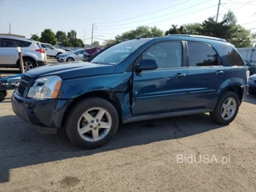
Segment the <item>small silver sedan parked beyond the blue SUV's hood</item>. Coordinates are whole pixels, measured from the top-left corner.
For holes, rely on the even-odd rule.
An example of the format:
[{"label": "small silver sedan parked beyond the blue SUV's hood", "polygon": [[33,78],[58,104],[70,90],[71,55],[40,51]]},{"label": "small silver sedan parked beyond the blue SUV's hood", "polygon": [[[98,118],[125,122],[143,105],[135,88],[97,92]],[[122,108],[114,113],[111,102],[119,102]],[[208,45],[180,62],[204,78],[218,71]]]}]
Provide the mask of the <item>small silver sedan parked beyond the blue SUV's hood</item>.
[{"label": "small silver sedan parked beyond the blue SUV's hood", "polygon": [[66,54],[59,54],[57,56],[58,62],[74,62],[74,61],[82,61],[83,54],[87,54],[85,49],[78,49],[72,52],[68,52]]}]

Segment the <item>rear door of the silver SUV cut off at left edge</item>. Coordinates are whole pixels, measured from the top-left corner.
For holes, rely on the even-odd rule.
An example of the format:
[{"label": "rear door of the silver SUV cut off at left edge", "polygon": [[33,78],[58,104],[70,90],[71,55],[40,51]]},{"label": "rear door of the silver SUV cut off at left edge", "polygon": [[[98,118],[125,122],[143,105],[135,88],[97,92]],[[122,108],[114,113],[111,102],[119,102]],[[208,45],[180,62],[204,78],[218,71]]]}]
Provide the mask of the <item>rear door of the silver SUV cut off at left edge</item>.
[{"label": "rear door of the silver SUV cut off at left edge", "polygon": [[18,61],[18,40],[13,38],[2,38],[0,45],[0,64],[15,65]]}]

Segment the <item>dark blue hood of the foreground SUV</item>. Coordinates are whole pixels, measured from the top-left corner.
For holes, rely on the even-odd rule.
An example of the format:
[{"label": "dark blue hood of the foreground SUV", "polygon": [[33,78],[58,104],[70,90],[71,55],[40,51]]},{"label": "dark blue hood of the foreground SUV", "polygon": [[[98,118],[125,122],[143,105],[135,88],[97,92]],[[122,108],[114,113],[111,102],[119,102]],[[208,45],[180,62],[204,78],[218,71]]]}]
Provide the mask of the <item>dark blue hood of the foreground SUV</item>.
[{"label": "dark blue hood of the foreground SUV", "polygon": [[26,72],[30,78],[39,78],[48,75],[58,75],[62,79],[81,78],[99,74],[114,73],[115,65],[103,65],[90,62],[71,62],[40,66]]}]

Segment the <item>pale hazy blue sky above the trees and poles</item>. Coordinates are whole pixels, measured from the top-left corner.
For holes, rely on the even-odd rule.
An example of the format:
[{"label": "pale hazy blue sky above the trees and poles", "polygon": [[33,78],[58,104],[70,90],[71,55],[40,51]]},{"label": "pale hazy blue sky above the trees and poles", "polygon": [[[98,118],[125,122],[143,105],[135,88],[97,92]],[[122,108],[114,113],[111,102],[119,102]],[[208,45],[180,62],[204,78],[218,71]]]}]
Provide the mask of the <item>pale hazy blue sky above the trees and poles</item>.
[{"label": "pale hazy blue sky above the trees and poles", "polygon": [[[172,24],[202,22],[217,14],[219,0],[0,0],[0,34],[41,35],[44,29],[68,32],[91,42],[114,38],[137,26],[168,30]],[[256,28],[256,0],[221,0],[218,21],[233,10],[246,29]],[[256,32],[256,29],[252,30]]]}]

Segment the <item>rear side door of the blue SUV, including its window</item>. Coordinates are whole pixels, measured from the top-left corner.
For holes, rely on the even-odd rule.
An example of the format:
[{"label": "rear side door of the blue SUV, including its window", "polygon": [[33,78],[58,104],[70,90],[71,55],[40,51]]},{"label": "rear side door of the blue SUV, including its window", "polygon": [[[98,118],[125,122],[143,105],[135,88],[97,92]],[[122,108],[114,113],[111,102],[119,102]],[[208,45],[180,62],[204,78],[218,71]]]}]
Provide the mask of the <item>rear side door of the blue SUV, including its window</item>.
[{"label": "rear side door of the blue SUV, including its window", "polygon": [[225,66],[210,44],[187,42],[189,54],[188,110],[211,108],[216,99],[216,92],[225,78]]}]

